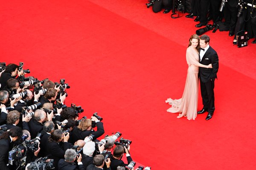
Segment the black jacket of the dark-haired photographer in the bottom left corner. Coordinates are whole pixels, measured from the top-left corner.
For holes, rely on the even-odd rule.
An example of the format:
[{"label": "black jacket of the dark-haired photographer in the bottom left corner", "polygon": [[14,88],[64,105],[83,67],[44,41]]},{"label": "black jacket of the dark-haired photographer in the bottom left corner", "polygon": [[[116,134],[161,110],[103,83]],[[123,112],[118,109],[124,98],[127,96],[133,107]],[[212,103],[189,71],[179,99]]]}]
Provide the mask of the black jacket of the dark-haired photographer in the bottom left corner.
[{"label": "black jacket of the dark-haired photographer in the bottom left corner", "polygon": [[[12,142],[13,143],[13,142]],[[12,149],[13,144],[11,144],[11,139],[0,139],[0,169],[9,170],[10,168],[6,166],[8,164],[8,152]]]}]

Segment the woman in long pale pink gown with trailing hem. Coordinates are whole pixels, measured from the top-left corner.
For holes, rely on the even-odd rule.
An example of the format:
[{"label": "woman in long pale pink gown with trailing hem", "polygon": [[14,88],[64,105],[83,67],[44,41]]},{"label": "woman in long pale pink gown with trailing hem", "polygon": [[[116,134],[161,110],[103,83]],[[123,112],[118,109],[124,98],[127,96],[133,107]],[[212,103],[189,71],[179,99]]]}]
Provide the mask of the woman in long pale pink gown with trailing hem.
[{"label": "woman in long pale pink gown with trailing hem", "polygon": [[181,99],[167,99],[166,103],[172,105],[167,111],[180,113],[177,118],[186,116],[187,119],[195,120],[198,107],[198,67],[212,68],[212,65],[202,65],[199,63],[198,50],[200,37],[193,34],[189,39],[189,47],[186,50],[186,62],[189,65],[186,77],[186,84]]}]

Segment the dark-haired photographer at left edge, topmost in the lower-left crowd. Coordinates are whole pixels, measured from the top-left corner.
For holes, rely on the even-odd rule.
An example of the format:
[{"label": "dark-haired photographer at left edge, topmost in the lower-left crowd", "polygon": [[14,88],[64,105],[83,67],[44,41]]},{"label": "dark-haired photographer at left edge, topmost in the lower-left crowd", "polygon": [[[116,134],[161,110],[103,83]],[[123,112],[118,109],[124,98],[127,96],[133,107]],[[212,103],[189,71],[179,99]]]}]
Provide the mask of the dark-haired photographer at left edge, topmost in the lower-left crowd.
[{"label": "dark-haired photographer at left edge, topmost in the lower-left crowd", "polygon": [[0,90],[2,90],[5,86],[6,86],[6,82],[9,79],[15,78],[18,74],[18,76],[23,74],[23,70],[22,71],[18,71],[19,66],[16,64],[9,64],[6,65],[6,69],[5,71],[1,74],[0,77]]}]

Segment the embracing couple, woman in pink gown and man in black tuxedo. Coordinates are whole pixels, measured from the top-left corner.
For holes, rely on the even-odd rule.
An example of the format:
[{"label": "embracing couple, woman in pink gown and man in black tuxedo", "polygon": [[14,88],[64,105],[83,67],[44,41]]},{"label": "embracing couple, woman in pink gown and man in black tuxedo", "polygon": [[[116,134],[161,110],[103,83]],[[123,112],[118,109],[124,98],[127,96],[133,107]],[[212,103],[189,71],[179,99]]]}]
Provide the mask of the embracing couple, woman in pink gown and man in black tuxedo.
[{"label": "embracing couple, woman in pink gown and man in black tuxedo", "polygon": [[[214,106],[214,80],[218,72],[218,54],[209,46],[210,38],[207,35],[199,37],[193,34],[189,39],[186,50],[186,61],[189,65],[186,84],[181,99],[167,99],[166,103],[172,105],[167,111],[180,113],[177,118],[186,116],[195,120],[197,114],[208,112],[206,120],[212,118]],[[198,77],[200,79],[203,109],[198,108]]]}]

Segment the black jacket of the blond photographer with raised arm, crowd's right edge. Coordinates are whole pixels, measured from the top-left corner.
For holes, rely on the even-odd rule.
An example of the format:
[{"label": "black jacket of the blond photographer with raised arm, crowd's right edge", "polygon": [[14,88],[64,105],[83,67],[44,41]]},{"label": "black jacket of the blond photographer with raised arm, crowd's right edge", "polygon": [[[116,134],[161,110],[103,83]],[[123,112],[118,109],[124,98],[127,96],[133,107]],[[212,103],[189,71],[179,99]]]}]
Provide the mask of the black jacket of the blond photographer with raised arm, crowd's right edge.
[{"label": "black jacket of the blond photographer with raised arm, crowd's right edge", "polygon": [[105,131],[103,127],[102,122],[97,122],[97,131],[91,131],[91,130],[80,130],[77,126],[73,129],[71,137],[70,137],[70,143],[75,143],[77,140],[82,139],[84,140],[85,137],[89,136],[90,134],[93,134],[95,137],[93,140],[97,139],[98,137],[102,136]]}]

